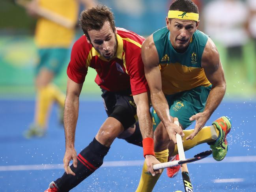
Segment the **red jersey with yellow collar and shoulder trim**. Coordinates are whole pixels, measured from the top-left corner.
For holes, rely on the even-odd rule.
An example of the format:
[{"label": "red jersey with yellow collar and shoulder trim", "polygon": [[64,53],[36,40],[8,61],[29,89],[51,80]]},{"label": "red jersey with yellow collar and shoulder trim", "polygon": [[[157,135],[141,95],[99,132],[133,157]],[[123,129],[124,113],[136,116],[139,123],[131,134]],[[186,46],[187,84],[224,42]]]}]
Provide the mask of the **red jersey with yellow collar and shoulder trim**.
[{"label": "red jersey with yellow collar and shoulder trim", "polygon": [[131,89],[133,95],[149,90],[140,55],[144,37],[123,28],[117,30],[116,57],[108,61],[87,42],[83,35],[73,45],[67,75],[76,83],[83,83],[88,67],[97,71],[95,82],[108,91]]}]

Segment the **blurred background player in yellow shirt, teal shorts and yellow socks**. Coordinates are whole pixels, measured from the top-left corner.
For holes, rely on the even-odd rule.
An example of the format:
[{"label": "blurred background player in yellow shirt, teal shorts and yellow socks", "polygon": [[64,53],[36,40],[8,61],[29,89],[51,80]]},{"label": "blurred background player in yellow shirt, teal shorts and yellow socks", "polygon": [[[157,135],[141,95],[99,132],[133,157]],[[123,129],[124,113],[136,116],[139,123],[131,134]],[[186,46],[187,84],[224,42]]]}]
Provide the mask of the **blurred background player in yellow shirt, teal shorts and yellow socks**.
[{"label": "blurred background player in yellow shirt, teal shorts and yellow socks", "polygon": [[[80,0],[85,7],[94,6],[93,0]],[[52,82],[65,66],[69,47],[75,35],[75,24],[79,11],[78,0],[32,0],[17,1],[23,4],[29,15],[38,17],[35,42],[39,61],[36,66],[35,86],[37,90],[34,123],[24,133],[26,138],[45,134],[52,103],[60,110],[63,123],[65,95]],[[68,25],[67,25],[68,23]]]}]

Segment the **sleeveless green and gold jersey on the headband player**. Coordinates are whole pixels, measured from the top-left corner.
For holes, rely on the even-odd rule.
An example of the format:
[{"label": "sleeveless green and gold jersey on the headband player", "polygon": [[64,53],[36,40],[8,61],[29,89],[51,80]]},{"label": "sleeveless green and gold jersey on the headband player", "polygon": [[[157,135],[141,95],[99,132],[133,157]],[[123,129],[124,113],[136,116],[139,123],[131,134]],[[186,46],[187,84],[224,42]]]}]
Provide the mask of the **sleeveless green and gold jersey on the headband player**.
[{"label": "sleeveless green and gold jersey on the headband player", "polygon": [[159,56],[164,94],[171,95],[198,86],[211,85],[201,67],[202,54],[208,40],[206,34],[196,30],[184,53],[176,52],[166,27],[153,33],[153,40]]}]

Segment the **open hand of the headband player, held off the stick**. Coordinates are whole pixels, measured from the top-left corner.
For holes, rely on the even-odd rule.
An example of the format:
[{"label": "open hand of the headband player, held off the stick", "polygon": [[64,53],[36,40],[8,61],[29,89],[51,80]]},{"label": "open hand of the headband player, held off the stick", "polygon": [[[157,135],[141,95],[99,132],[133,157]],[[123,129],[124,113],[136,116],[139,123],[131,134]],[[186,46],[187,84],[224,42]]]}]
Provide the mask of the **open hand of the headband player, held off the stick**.
[{"label": "open hand of the headband player, held off the stick", "polygon": [[194,132],[192,132],[189,136],[186,137],[186,140],[194,138],[196,134],[204,127],[206,121],[209,119],[209,115],[204,112],[193,115],[189,118],[190,121],[196,120],[196,126],[194,128]]}]

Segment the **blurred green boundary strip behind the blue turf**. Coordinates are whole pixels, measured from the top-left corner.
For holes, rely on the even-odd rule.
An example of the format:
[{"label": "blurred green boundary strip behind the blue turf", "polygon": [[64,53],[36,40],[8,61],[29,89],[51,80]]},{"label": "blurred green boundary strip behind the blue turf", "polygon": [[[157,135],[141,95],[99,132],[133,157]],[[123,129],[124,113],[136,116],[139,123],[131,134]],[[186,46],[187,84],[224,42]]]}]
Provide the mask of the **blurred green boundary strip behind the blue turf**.
[{"label": "blurred green boundary strip behind the blue turf", "polygon": [[[227,91],[225,98],[253,99],[256,95],[254,48],[248,44],[243,48],[245,56],[230,56],[224,48],[218,45],[222,65],[224,66]],[[0,97],[1,98],[30,98],[34,97],[34,67],[37,63],[37,50],[32,36],[1,36],[0,37]],[[66,61],[68,64],[69,60]],[[248,65],[248,63],[250,63]],[[67,66],[66,64],[66,66]],[[101,91],[94,82],[96,72],[89,68],[82,98],[99,99]],[[54,80],[65,92],[66,67]]]}]

